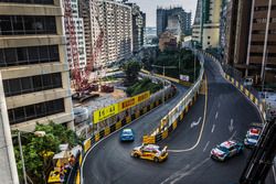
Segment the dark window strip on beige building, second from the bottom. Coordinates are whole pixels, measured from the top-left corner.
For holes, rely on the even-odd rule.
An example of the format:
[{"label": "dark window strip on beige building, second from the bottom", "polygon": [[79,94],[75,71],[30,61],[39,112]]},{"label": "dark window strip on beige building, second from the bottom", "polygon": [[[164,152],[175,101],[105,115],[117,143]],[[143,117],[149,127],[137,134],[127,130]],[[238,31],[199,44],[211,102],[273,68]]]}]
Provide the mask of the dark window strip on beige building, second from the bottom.
[{"label": "dark window strip on beige building, second from the bottom", "polygon": [[6,97],[61,88],[61,87],[62,87],[61,73],[3,80]]}]

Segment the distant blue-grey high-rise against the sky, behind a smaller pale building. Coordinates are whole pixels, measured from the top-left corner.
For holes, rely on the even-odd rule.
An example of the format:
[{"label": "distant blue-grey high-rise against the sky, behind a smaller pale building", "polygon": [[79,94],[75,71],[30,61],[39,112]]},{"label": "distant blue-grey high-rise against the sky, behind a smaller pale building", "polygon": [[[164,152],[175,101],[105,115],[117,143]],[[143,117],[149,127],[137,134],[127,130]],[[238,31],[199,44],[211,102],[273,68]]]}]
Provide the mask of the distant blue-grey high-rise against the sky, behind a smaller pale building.
[{"label": "distant blue-grey high-rise against the sky, behind a smaller pale building", "polygon": [[185,12],[181,7],[163,9],[157,8],[157,35],[160,36],[168,26],[169,17],[177,15],[180,21],[182,34],[191,34],[191,12]]}]

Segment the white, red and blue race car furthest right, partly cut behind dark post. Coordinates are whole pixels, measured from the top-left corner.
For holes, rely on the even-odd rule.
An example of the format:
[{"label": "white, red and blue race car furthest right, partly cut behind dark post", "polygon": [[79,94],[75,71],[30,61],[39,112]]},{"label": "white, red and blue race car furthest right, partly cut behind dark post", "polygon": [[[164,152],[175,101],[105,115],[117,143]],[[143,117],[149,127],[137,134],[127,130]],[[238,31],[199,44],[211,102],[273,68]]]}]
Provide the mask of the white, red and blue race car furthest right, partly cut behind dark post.
[{"label": "white, red and blue race car furthest right, partly cut behind dark post", "polygon": [[247,148],[254,148],[257,145],[259,134],[262,132],[261,128],[251,128],[244,139],[244,145]]}]

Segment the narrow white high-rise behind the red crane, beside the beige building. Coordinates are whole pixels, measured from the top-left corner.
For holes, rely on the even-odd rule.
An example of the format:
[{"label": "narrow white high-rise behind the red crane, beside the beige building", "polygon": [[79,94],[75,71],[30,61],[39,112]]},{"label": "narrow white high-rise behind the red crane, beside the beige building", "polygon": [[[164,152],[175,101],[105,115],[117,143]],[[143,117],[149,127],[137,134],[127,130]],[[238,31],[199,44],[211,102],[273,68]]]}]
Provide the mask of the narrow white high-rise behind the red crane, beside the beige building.
[{"label": "narrow white high-rise behind the red crane, beside the beige building", "polygon": [[[64,1],[64,0],[63,0]],[[84,36],[84,22],[83,18],[78,15],[78,1],[70,0],[71,9],[72,9],[72,20],[75,31],[72,34],[75,34],[77,51],[78,51],[78,66],[81,69],[84,69],[86,66],[86,51],[85,51],[85,36]],[[68,21],[64,19],[64,21]],[[72,59],[72,51],[70,44],[70,30],[65,24],[65,33],[66,33],[66,50],[67,50],[67,61],[70,64],[70,68],[74,68],[74,63]]]}]

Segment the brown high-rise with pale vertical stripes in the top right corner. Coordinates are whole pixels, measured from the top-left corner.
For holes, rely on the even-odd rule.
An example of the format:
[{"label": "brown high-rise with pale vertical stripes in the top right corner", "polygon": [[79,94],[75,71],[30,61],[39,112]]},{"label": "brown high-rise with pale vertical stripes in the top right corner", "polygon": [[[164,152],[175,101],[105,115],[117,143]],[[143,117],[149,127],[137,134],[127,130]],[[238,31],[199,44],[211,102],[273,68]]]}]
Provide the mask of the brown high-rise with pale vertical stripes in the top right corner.
[{"label": "brown high-rise with pale vertical stripes in the top right corner", "polygon": [[234,52],[225,53],[224,61],[255,83],[275,84],[276,0],[238,1],[233,6],[236,8],[230,17],[237,20],[232,24],[236,31],[227,44],[234,43]]}]

